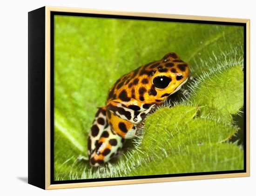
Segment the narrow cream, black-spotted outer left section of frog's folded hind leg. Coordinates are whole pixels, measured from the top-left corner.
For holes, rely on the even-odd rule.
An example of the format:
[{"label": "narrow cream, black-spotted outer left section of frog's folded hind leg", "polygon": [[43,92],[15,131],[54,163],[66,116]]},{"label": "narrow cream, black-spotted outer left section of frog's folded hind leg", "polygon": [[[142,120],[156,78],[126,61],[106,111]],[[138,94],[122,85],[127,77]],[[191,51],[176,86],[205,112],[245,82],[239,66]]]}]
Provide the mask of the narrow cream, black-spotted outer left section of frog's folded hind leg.
[{"label": "narrow cream, black-spotted outer left section of frog's folded hind leg", "polygon": [[93,125],[91,126],[89,136],[88,136],[88,158],[90,159],[91,154],[95,151],[95,143],[100,139],[101,133],[104,129],[108,127],[107,117],[106,117],[106,107],[99,107]]}]

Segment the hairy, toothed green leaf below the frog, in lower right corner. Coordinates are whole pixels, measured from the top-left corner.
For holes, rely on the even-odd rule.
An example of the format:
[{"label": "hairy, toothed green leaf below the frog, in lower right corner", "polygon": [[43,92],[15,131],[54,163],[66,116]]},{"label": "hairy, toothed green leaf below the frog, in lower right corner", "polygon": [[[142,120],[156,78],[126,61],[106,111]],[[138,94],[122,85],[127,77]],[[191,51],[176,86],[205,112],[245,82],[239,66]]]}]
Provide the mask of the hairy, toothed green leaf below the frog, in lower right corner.
[{"label": "hairy, toothed green leaf below the frog, in lower right corner", "polygon": [[[168,109],[172,110],[169,114],[172,114],[172,112],[178,112],[177,115],[173,115],[175,118],[176,116],[185,116],[186,111],[189,111],[190,108],[191,107],[175,106]],[[166,108],[159,109],[157,112],[159,112],[158,114],[160,115],[154,116],[154,120],[156,119],[155,121],[158,119],[157,123],[150,120],[152,115],[147,119],[144,130],[145,136],[141,142],[141,150],[143,151],[143,154],[150,154],[150,161],[138,166],[138,168],[133,170],[130,175],[138,175],[140,172],[144,175],[152,175],[154,172],[158,174],[172,174],[225,170],[224,168],[226,168],[227,165],[224,162],[223,164],[225,165],[218,164],[218,170],[214,168],[214,165],[219,163],[222,159],[233,160],[234,155],[237,155],[236,153],[219,153],[225,148],[230,151],[239,151],[239,156],[234,158],[234,160],[239,164],[237,164],[236,167],[233,165],[229,170],[234,170],[234,168],[243,168],[243,158],[241,159],[241,157],[243,157],[243,151],[233,144],[220,144],[236,133],[236,127],[221,124],[215,120],[202,118],[178,120],[178,122],[176,120],[169,119],[168,124],[165,124],[164,126],[165,130],[162,130],[159,134],[158,130],[161,130],[161,128],[160,126],[155,127],[155,124],[162,126],[162,111],[165,109]],[[182,111],[184,112],[182,113]],[[157,135],[158,138],[155,139]],[[153,139],[155,141],[153,144],[151,143],[152,137],[154,137]],[[151,147],[152,145],[154,148]],[[225,151],[228,152],[227,149],[225,149]],[[201,156],[207,160],[211,160],[217,156],[217,163],[215,161],[200,162],[202,160],[198,160],[198,157]],[[184,163],[185,165],[181,168],[176,165],[180,163],[178,158],[182,158],[181,160],[186,163]],[[200,166],[193,166],[192,168],[192,164],[194,163],[200,164]],[[156,166],[149,167],[148,164],[151,166],[155,164]],[[173,167],[172,164],[175,164],[175,167]]]}]

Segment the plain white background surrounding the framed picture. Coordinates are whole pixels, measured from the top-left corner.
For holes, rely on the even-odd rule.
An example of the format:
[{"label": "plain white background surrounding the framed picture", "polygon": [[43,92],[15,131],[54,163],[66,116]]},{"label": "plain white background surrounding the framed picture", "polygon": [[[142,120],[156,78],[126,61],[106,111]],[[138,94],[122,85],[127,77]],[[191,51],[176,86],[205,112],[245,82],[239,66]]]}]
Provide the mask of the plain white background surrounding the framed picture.
[{"label": "plain white background surrounding the framed picture", "polygon": [[[253,0],[3,0],[0,9],[0,195],[195,195],[256,194],[255,53]],[[251,177],[148,183],[66,190],[27,184],[27,12],[41,6],[175,13],[251,19]]]}]

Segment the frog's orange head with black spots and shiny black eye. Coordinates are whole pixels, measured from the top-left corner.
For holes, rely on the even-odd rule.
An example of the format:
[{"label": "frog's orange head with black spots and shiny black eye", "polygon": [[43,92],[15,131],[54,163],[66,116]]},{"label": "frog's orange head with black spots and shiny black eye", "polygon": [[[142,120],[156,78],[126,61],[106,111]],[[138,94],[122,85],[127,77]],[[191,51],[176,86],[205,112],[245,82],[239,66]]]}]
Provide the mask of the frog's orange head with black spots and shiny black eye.
[{"label": "frog's orange head with black spots and shiny black eye", "polygon": [[150,76],[152,85],[149,94],[155,95],[154,98],[158,102],[178,91],[188,80],[189,65],[174,52],[165,55],[153,69],[154,74]]}]

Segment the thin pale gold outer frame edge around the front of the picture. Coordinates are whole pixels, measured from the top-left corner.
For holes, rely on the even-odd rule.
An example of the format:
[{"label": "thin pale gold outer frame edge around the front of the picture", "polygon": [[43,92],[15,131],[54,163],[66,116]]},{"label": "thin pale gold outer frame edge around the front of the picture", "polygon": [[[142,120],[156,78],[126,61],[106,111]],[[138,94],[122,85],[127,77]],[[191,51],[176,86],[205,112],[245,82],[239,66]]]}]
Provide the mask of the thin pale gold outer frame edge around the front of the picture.
[{"label": "thin pale gold outer frame edge around the front of the picture", "polygon": [[[203,20],[203,21],[218,21],[218,22],[236,22],[246,24],[246,169],[244,173],[230,173],[230,174],[212,174],[212,175],[199,175],[199,176],[184,176],[184,177],[160,177],[160,178],[147,178],[147,179],[133,179],[133,180],[115,180],[103,182],[87,182],[87,183],[63,183],[63,184],[50,184],[50,12],[70,12],[70,13],[97,13],[97,14],[111,14],[123,16],[141,16],[141,17],[154,17],[154,18],[170,18],[170,19],[189,19],[189,20]],[[227,177],[249,177],[250,176],[250,152],[249,152],[249,126],[250,126],[250,20],[249,19],[235,19],[235,18],[221,18],[209,16],[191,16],[179,14],[166,14],[166,13],[139,13],[139,12],[122,12],[122,11],[109,11],[98,9],[83,9],[83,8],[67,8],[67,7],[52,7],[46,6],[45,9],[45,189],[65,189],[65,188],[79,188],[79,187],[92,187],[92,186],[108,186],[108,185],[121,185],[121,184],[135,184],[135,183],[160,183],[172,181],[185,181],[185,180],[202,180],[214,178],[227,178]]]}]

